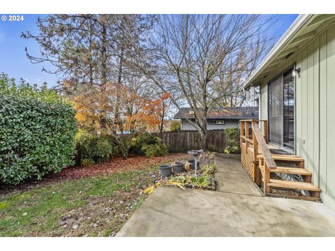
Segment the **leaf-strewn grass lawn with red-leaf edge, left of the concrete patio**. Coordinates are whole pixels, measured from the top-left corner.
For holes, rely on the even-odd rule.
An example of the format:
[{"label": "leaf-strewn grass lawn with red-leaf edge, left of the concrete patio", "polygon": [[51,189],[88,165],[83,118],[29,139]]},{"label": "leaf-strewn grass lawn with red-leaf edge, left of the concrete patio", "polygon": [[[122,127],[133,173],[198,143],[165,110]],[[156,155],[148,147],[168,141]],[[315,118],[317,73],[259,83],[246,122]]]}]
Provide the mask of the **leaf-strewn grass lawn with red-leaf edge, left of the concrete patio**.
[{"label": "leaf-strewn grass lawn with red-leaf edge, left of the concrete patio", "polygon": [[144,201],[158,165],[186,158],[112,160],[68,168],[31,189],[10,188],[0,199],[0,236],[114,236]]}]

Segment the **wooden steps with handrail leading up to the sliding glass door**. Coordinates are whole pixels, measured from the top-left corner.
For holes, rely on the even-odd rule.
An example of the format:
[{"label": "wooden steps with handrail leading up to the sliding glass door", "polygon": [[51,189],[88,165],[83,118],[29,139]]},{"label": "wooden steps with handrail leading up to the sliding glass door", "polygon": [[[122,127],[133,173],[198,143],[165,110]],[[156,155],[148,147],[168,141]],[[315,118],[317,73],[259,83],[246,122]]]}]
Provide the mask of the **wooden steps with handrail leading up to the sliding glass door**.
[{"label": "wooden steps with handrail leading up to the sliding glass door", "polygon": [[[251,137],[249,137],[249,130],[246,130],[246,128],[249,128],[249,122],[251,123]],[[296,155],[271,153],[269,148],[273,148],[273,146],[267,144],[267,121],[264,121],[264,135],[262,135],[258,126],[259,122],[260,121],[240,121],[241,144],[245,146],[244,151],[248,151],[248,153],[252,153],[251,155],[253,155],[254,169],[253,176],[251,177],[253,181],[257,185],[262,186],[265,195],[281,197],[278,193],[273,193],[273,188],[290,188],[306,190],[311,197],[295,195],[283,195],[283,197],[320,201],[321,190],[311,183],[312,173],[304,169],[304,159]],[[278,179],[277,176],[273,174],[278,174]],[[290,177],[293,177],[292,174],[299,175],[302,181],[295,181],[293,178],[294,181],[282,180],[279,176],[283,176],[283,174],[288,174]]]}]

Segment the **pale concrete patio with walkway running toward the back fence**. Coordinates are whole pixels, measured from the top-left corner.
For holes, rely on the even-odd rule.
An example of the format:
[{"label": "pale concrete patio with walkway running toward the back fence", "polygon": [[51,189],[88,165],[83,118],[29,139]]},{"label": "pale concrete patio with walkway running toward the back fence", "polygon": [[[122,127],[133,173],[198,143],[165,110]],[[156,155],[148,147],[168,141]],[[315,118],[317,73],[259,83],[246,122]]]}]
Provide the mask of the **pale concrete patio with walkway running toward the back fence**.
[{"label": "pale concrete patio with walkway running toward the back fence", "polygon": [[117,236],[335,236],[324,204],[262,197],[239,157],[216,164],[217,191],[159,187]]}]

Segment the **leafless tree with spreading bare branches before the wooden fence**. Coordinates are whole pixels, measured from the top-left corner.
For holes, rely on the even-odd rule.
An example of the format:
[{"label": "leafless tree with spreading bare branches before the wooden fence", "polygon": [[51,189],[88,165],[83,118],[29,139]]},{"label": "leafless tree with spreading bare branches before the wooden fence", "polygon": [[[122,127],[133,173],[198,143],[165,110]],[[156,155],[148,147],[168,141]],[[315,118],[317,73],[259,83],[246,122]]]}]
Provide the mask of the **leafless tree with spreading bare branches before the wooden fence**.
[{"label": "leafless tree with spreading bare branches before the wooden fence", "polygon": [[147,50],[137,48],[133,65],[168,91],[176,107],[193,110],[195,120],[188,121],[203,149],[211,108],[239,105],[238,86],[265,53],[262,34],[270,21],[261,15],[161,15]]}]

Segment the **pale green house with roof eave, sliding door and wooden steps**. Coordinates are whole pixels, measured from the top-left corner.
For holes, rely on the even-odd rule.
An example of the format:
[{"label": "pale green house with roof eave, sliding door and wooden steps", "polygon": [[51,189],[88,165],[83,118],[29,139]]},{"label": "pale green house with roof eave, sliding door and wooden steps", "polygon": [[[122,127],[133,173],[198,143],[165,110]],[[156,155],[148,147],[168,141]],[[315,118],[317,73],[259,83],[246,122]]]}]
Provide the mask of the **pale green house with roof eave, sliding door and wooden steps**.
[{"label": "pale green house with roof eave, sliding door and wooden steps", "polygon": [[[335,208],[335,15],[299,15],[246,80],[244,90],[251,86],[260,88],[260,121],[241,121],[241,129],[254,123],[253,134],[260,127],[267,145],[253,146],[260,142],[244,131],[242,165],[254,170],[249,173],[256,183],[264,181],[265,192],[271,193],[272,187],[308,190]],[[267,158],[265,148],[290,155],[271,153]],[[258,158],[253,150],[264,151]],[[250,154],[253,163],[243,156]],[[269,180],[265,172],[278,173],[274,162],[278,165],[279,158],[296,162],[300,169],[281,169],[288,174],[281,176],[284,181]]]}]

